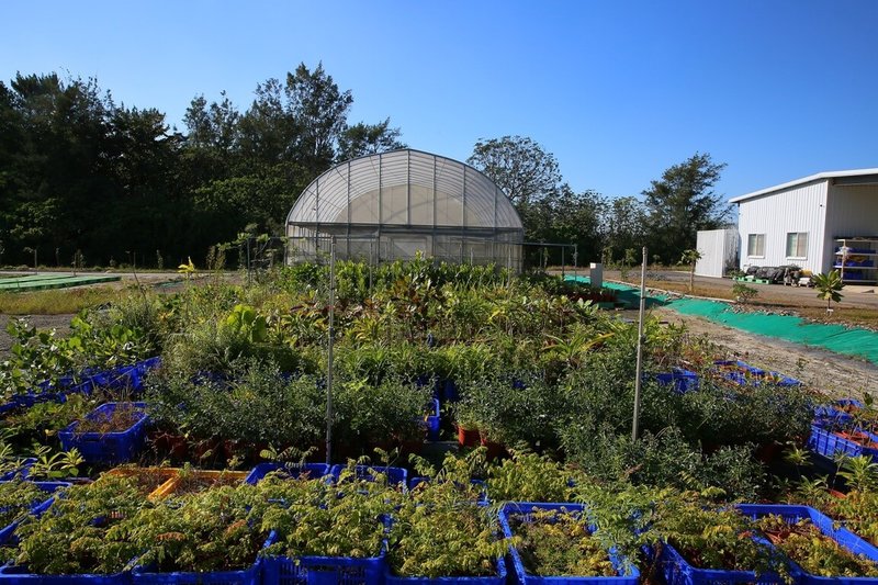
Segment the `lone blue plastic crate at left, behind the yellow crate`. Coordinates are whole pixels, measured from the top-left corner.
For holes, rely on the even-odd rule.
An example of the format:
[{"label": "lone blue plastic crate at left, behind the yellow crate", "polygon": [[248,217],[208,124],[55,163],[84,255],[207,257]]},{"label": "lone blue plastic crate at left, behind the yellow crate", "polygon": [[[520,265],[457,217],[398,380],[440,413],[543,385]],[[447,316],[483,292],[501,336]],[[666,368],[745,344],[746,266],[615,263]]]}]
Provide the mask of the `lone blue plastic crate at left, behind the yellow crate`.
[{"label": "lone blue plastic crate at left, behind the yellow crate", "polygon": [[146,442],[146,425],[149,417],[144,409],[146,403],[116,403],[103,404],[86,415],[88,418],[111,415],[117,405],[131,404],[137,408],[139,418],[128,429],[120,432],[77,432],[79,421],[71,423],[58,432],[61,447],[65,451],[77,448],[82,459],[88,463],[115,465],[133,460],[143,450]]}]

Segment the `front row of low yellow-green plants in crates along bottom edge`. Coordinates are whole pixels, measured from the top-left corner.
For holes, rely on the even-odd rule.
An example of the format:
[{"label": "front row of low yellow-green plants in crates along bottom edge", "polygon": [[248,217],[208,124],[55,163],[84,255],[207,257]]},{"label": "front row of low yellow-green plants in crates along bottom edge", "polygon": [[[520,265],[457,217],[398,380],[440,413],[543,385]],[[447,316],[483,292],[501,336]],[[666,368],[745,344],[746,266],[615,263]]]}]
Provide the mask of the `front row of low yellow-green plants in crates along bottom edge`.
[{"label": "front row of low yellow-green plants in crates along bottom edge", "polygon": [[4,482],[0,580],[878,582],[878,549],[808,506],[579,490],[573,472],[532,454],[519,466],[539,468],[581,503],[493,503],[492,480],[473,481],[472,463],[449,457],[410,490],[405,469],[353,463],[264,463],[246,474],[124,466],[82,485]]}]

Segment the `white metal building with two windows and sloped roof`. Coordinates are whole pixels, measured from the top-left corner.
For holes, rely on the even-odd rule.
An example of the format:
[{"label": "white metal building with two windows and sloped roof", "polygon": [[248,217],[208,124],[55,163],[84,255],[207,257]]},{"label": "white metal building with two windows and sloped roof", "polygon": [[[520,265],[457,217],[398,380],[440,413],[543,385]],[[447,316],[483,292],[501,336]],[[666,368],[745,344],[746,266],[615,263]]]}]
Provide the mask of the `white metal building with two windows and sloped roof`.
[{"label": "white metal building with two windows and sloped roof", "polygon": [[741,268],[797,265],[878,279],[878,168],[821,172],[730,200]]}]

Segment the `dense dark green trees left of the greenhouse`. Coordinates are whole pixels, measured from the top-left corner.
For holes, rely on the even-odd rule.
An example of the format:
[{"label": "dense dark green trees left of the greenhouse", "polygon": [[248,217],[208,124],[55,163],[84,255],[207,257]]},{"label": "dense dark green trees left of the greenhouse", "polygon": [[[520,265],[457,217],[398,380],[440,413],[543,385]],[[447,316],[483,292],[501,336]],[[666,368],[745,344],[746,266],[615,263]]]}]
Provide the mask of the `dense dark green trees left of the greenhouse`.
[{"label": "dense dark green trees left of the greenhouse", "polygon": [[195,97],[182,133],[94,79],[0,82],[0,262],[170,268],[250,224],[277,233],[336,160],[402,146],[389,120],[350,124],[352,101],[303,64],[243,112]]}]

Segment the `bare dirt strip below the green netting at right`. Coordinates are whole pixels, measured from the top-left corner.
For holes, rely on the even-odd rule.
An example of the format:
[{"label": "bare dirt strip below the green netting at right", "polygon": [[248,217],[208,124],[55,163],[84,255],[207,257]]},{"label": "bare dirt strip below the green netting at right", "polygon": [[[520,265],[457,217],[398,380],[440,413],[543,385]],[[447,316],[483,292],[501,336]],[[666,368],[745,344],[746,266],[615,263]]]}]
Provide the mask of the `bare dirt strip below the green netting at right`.
[{"label": "bare dirt strip below the green netting at right", "polygon": [[801,380],[812,389],[836,398],[862,397],[878,391],[878,367],[823,349],[753,335],[700,317],[680,315],[669,308],[653,308],[660,319],[683,324],[695,336],[706,335],[728,352],[746,361]]}]

